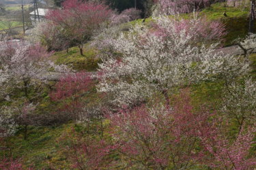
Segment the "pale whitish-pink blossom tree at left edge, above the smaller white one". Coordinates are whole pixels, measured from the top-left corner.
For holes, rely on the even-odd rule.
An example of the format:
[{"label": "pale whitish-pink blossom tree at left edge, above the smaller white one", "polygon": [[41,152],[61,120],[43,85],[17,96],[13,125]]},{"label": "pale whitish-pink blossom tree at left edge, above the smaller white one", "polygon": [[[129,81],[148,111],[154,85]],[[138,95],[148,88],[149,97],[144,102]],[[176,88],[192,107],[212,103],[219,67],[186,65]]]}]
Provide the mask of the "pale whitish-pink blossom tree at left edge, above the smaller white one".
[{"label": "pale whitish-pink blossom tree at left edge, above the smaller white one", "polygon": [[46,80],[44,74],[50,70],[65,72],[69,71],[64,65],[55,65],[46,52],[39,45],[14,46],[3,44],[0,50],[0,84],[1,97],[9,95],[10,90],[19,88],[29,100],[28,90],[32,86],[43,84]]}]

